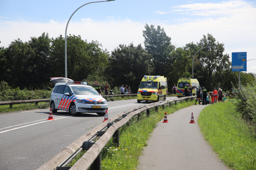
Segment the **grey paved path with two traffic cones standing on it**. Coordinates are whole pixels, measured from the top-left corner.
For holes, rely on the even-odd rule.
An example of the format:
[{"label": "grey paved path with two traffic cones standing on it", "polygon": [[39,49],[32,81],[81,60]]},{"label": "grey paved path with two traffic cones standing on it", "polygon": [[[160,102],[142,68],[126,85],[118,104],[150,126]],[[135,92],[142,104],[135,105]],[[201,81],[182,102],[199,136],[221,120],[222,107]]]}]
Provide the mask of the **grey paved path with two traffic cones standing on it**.
[{"label": "grey paved path with two traffic cones standing on it", "polygon": [[[203,138],[197,124],[206,106],[194,105],[167,115],[169,123],[158,123],[144,154],[140,170],[228,170]],[[189,124],[193,112],[195,124]]]}]

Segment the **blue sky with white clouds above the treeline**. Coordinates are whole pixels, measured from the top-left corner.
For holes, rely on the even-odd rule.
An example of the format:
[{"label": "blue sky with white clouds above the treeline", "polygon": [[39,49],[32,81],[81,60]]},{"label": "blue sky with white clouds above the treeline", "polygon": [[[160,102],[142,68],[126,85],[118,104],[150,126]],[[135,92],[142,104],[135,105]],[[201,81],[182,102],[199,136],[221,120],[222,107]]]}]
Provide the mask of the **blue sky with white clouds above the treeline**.
[{"label": "blue sky with white clouds above the treeline", "polygon": [[[91,0],[0,0],[0,46],[48,33],[65,37],[68,19]],[[175,47],[199,42],[208,33],[224,43],[224,54],[247,52],[256,59],[256,0],[115,0],[91,3],[72,16],[67,35],[97,40],[113,51],[119,44],[142,44],[145,24],[164,28]],[[256,60],[247,62],[256,73]]]}]

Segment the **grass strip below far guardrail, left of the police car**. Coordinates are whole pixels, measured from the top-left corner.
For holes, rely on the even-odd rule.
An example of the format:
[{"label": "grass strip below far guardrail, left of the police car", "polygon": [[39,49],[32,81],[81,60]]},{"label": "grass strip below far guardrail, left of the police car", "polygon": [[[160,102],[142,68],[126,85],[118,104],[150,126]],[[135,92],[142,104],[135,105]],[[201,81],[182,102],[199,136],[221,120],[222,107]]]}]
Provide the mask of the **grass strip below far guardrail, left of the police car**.
[{"label": "grass strip below far guardrail, left of the police car", "polygon": [[0,113],[6,112],[17,112],[21,110],[31,110],[31,109],[46,109],[49,108],[49,102],[38,102],[36,106],[35,103],[22,103],[22,104],[13,104],[12,108],[9,105],[0,105]]}]

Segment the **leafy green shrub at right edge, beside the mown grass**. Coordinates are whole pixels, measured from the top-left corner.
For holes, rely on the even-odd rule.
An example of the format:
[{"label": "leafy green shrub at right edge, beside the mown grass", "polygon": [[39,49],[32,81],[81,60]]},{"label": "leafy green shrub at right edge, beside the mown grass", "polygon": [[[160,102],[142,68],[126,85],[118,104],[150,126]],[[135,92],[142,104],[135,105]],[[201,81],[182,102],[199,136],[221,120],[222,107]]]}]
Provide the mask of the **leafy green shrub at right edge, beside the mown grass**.
[{"label": "leafy green shrub at right edge, beside the mown grass", "polygon": [[256,123],[256,81],[254,84],[242,86],[236,91],[236,108],[244,119]]}]

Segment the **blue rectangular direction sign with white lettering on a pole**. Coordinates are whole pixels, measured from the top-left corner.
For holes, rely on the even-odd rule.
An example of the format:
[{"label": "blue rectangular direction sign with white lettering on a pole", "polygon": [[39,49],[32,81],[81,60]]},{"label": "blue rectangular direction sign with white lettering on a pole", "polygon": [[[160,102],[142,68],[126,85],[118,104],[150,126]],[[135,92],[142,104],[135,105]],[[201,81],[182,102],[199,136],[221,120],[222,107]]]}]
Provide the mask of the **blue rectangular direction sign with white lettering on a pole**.
[{"label": "blue rectangular direction sign with white lettering on a pole", "polygon": [[232,71],[247,71],[247,52],[232,52]]}]

